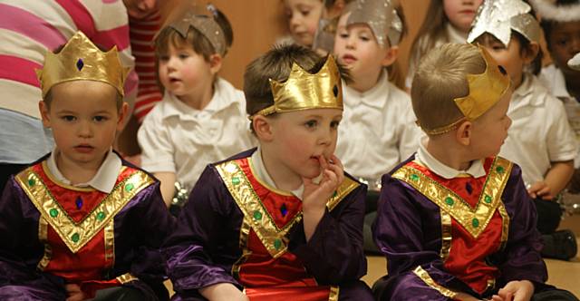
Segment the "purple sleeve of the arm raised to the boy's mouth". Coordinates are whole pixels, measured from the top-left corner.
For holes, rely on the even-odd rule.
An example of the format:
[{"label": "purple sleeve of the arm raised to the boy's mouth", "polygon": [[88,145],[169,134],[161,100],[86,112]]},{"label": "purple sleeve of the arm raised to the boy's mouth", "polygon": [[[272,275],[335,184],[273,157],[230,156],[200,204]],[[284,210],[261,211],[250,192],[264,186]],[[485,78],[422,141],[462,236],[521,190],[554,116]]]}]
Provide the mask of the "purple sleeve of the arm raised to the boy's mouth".
[{"label": "purple sleeve of the arm raised to the boy's mouth", "polygon": [[289,249],[304,261],[304,266],[321,284],[337,285],[357,280],[366,274],[362,250],[362,224],[366,185],[351,191],[323,218],[308,242],[304,224],[296,226]]}]

